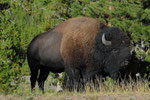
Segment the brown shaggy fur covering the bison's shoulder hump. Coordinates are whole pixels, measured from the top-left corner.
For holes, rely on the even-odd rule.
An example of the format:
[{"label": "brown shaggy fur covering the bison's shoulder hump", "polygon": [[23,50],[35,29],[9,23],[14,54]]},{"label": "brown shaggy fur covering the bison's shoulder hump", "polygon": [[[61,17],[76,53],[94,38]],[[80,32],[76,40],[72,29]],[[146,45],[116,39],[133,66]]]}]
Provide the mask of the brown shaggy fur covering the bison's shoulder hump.
[{"label": "brown shaggy fur covering the bison's shoulder hump", "polygon": [[[92,51],[95,37],[102,28],[106,27],[99,19],[78,17],[69,19],[53,29],[54,32],[63,33],[61,42],[61,55],[64,62],[86,62],[89,67],[91,60],[89,53]],[[87,61],[82,61],[82,60]],[[81,67],[81,66],[74,66]]]}]

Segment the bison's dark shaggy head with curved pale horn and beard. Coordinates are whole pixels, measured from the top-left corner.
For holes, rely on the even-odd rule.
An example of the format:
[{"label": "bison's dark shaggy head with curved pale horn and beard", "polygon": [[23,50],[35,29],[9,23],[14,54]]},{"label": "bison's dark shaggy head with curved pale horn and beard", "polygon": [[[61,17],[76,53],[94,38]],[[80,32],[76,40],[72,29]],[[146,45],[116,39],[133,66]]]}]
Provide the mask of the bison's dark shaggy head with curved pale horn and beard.
[{"label": "bison's dark shaggy head with curved pale horn and beard", "polygon": [[96,59],[103,71],[116,79],[130,59],[128,36],[116,27],[106,27],[97,34],[95,41]]}]

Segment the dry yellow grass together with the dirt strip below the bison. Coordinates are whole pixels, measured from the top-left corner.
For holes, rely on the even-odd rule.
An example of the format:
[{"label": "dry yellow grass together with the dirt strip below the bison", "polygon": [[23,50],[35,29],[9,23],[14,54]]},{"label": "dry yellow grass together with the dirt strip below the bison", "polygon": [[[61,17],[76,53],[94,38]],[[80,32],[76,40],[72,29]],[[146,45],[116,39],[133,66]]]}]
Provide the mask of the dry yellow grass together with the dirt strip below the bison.
[{"label": "dry yellow grass together with the dirt strip below the bison", "polygon": [[57,93],[49,86],[51,80],[46,81],[45,94],[38,88],[34,93],[30,92],[30,83],[22,83],[20,87],[10,95],[0,95],[0,100],[150,100],[150,87],[146,79],[138,78],[136,81],[129,79],[115,82],[106,78],[104,82],[98,80],[98,87],[92,83],[85,86],[85,91]]}]

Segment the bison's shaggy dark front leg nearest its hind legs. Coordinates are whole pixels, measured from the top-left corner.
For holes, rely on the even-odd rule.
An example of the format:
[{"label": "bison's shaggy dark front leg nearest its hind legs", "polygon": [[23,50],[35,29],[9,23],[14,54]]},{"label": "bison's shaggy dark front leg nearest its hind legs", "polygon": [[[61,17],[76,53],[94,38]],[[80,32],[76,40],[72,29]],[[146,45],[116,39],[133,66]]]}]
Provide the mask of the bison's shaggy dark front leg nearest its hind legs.
[{"label": "bison's shaggy dark front leg nearest its hind legs", "polygon": [[76,68],[66,68],[65,69],[65,79],[64,79],[64,88],[69,91],[77,90],[79,91],[80,84],[80,71]]}]

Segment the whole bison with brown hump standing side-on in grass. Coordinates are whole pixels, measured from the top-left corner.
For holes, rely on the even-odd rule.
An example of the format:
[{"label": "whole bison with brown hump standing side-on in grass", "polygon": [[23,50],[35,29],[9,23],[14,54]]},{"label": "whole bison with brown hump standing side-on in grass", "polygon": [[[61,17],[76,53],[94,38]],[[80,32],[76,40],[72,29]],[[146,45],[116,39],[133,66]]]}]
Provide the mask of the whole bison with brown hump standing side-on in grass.
[{"label": "whole bison with brown hump standing side-on in grass", "polygon": [[[65,72],[64,86],[104,73],[116,79],[130,59],[130,41],[117,27],[109,27],[99,19],[78,17],[36,36],[28,46],[31,90],[36,80],[44,92],[49,72]],[[40,75],[38,76],[38,70]]]}]

